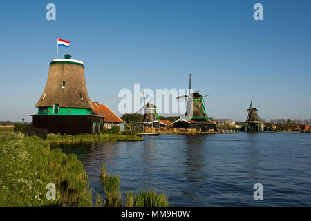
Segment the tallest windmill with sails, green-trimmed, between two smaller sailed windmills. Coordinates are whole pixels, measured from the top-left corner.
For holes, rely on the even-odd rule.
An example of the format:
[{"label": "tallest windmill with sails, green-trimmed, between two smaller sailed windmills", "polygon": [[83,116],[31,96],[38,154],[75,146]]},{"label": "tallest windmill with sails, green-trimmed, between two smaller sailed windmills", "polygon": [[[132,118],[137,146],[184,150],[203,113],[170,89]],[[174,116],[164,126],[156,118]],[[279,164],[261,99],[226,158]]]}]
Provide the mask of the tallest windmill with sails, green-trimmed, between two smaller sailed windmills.
[{"label": "tallest windmill with sails, green-trimmed, between two smaller sailed windmills", "polygon": [[176,97],[176,99],[187,99],[187,111],[185,113],[187,119],[205,121],[207,119],[213,119],[207,116],[205,110],[204,97],[207,96],[209,95],[200,95],[199,91],[191,93],[191,74],[189,74],[189,95]]}]

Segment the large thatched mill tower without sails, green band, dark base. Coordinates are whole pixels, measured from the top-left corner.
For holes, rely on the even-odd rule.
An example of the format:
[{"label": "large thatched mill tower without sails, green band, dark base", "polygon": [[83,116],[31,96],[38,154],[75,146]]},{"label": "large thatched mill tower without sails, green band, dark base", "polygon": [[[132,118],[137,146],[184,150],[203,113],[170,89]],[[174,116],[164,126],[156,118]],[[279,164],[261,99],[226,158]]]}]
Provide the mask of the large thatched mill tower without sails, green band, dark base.
[{"label": "large thatched mill tower without sails, green band, dark base", "polygon": [[35,107],[33,126],[46,128],[48,133],[100,133],[104,123],[104,117],[92,113],[84,64],[70,55],[50,62],[46,87]]}]

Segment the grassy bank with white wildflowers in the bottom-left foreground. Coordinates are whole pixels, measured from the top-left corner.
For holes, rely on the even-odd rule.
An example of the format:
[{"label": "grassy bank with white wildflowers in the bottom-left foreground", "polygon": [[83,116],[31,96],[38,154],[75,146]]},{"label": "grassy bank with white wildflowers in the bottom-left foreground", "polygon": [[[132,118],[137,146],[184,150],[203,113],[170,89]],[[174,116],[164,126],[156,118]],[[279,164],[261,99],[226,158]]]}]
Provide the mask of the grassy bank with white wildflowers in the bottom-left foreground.
[{"label": "grassy bank with white wildflowers in the bottom-left foreground", "polygon": [[[86,172],[74,154],[48,141],[10,133],[0,144],[0,206],[92,206]],[[46,199],[46,184],[56,200]]]}]

